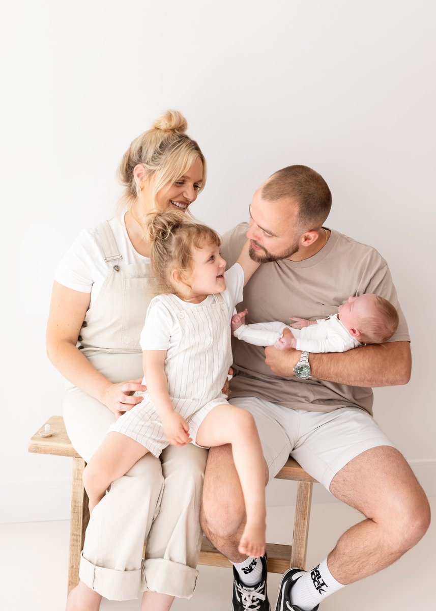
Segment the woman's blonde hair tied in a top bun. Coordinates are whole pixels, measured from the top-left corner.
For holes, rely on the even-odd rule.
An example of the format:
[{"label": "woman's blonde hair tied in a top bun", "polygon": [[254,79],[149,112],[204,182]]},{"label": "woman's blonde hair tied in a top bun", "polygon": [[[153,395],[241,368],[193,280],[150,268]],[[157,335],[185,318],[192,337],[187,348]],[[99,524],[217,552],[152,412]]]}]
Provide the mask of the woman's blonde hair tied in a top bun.
[{"label": "woman's blonde hair tied in a top bun", "polygon": [[153,207],[156,206],[158,191],[183,176],[198,158],[203,163],[202,185],[198,192],[205,188],[206,159],[197,142],[187,136],[186,129],[184,116],[178,111],[168,110],[154,121],[151,130],[131,142],[118,166],[118,179],[125,186],[118,202],[119,208],[130,208],[138,197],[139,188],[133,170],[139,164],[144,166],[147,178],[154,177]]}]

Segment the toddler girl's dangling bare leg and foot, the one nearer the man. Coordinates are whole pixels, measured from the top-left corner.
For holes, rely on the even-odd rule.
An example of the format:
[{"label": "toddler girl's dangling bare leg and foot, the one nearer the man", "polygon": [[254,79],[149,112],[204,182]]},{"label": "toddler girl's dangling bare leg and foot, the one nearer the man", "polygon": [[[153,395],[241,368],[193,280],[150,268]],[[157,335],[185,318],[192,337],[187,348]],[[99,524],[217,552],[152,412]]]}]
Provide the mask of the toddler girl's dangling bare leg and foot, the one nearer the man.
[{"label": "toddler girl's dangling bare leg and foot, the one nearer the man", "polygon": [[247,514],[238,551],[254,557],[263,555],[266,528],[264,458],[252,415],[233,405],[219,405],[200,425],[197,442],[210,446],[231,443]]}]

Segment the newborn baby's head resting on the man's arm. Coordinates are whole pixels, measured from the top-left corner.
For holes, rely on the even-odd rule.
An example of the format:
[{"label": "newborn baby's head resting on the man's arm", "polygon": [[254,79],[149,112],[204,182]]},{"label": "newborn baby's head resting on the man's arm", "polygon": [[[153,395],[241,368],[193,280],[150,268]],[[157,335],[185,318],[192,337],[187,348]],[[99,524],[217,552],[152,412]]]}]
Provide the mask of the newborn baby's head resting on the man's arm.
[{"label": "newborn baby's head resting on the man's arm", "polygon": [[374,293],[349,297],[339,307],[341,323],[360,343],[383,343],[398,327],[398,312],[393,305]]}]

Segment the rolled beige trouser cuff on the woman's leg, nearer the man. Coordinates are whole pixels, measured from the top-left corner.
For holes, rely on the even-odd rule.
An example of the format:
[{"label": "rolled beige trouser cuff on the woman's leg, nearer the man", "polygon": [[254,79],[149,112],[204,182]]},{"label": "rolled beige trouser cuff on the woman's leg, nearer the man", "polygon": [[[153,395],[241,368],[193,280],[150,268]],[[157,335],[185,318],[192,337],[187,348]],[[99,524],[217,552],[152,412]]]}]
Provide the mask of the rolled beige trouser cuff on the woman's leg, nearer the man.
[{"label": "rolled beige trouser cuff on the woman's leg, nearer the man", "polygon": [[146,558],[142,566],[142,591],[150,590],[176,598],[191,598],[194,594],[197,569],[164,558]]}]

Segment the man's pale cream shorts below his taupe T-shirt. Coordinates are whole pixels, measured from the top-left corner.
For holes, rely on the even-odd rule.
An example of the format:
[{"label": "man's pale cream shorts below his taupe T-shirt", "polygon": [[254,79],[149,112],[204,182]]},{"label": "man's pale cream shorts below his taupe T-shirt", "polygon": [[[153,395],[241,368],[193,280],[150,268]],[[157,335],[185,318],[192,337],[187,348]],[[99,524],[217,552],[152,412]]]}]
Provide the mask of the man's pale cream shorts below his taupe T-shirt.
[{"label": "man's pale cream shorts below his taupe T-shirt", "polygon": [[236,397],[229,403],[253,415],[270,479],[291,455],[329,490],[336,473],[360,453],[379,445],[393,447],[374,418],[360,408],[312,412],[256,397]]}]

